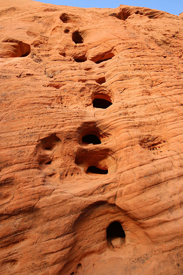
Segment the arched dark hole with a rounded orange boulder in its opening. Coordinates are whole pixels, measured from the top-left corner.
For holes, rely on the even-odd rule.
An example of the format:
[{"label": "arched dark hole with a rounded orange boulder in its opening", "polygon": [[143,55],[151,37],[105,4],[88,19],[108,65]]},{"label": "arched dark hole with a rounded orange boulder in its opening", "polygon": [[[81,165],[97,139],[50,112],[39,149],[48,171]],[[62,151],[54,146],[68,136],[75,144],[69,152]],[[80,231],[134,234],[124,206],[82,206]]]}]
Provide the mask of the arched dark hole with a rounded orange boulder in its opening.
[{"label": "arched dark hole with a rounded orange boulder in its opening", "polygon": [[122,248],[125,245],[125,232],[120,222],[112,222],[106,230],[107,246],[113,248]]}]

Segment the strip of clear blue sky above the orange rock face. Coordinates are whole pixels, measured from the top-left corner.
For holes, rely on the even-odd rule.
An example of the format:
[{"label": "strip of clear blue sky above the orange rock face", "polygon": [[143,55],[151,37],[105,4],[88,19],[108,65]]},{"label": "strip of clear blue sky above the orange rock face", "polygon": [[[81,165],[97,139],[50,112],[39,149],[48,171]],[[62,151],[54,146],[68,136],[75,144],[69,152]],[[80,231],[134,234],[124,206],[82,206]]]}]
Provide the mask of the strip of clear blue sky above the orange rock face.
[{"label": "strip of clear blue sky above the orange rock face", "polygon": [[159,9],[177,15],[183,12],[183,0],[42,0],[38,2],[81,8],[117,8],[120,4],[123,4],[130,6],[147,7],[151,9]]}]

